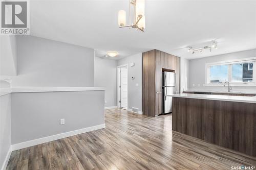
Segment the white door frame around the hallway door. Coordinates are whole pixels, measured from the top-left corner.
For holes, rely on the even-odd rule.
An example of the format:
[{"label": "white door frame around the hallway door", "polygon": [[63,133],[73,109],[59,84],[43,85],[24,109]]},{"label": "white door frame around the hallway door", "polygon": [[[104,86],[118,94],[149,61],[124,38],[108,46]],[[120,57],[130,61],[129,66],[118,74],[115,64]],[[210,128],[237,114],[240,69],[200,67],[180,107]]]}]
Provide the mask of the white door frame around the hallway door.
[{"label": "white door frame around the hallway door", "polygon": [[120,68],[121,67],[125,67],[127,68],[127,110],[129,109],[129,64],[122,64],[122,65],[118,65],[117,66],[117,69],[116,69],[116,72],[117,72],[117,108],[120,108]]}]

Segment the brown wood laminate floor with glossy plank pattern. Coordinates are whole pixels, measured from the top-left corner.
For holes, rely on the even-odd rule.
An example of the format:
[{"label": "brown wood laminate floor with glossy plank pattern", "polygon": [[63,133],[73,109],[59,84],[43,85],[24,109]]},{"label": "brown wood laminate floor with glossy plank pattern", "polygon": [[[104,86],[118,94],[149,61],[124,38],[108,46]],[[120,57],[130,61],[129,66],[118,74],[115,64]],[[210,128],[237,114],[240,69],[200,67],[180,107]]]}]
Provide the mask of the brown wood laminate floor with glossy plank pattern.
[{"label": "brown wood laminate floor with glossy plank pattern", "polygon": [[[256,158],[172,131],[172,115],[105,110],[106,128],[13,151],[7,169],[231,169]],[[255,168],[254,168],[255,169]]]}]

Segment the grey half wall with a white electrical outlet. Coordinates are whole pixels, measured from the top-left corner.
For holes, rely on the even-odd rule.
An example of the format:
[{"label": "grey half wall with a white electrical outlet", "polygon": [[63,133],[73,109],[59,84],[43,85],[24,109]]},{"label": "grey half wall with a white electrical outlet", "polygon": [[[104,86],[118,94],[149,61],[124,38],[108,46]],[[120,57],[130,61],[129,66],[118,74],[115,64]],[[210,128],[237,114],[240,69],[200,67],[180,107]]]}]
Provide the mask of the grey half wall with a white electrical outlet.
[{"label": "grey half wall with a white electrical outlet", "polygon": [[103,90],[11,95],[12,144],[104,124]]}]

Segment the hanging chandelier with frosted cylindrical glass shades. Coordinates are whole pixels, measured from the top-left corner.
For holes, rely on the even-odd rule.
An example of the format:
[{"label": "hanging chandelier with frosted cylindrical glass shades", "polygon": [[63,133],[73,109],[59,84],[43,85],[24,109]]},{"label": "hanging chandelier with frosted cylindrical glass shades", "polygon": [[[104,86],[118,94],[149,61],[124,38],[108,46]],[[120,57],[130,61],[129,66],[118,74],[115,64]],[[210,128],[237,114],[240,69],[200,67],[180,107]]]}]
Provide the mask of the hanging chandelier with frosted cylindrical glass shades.
[{"label": "hanging chandelier with frosted cylindrical glass shades", "polygon": [[[134,23],[131,23],[131,5],[134,6]],[[126,12],[124,10],[118,11],[118,25],[119,28],[129,27],[144,32],[145,29],[145,0],[131,0],[129,1],[129,25],[125,25]]]}]

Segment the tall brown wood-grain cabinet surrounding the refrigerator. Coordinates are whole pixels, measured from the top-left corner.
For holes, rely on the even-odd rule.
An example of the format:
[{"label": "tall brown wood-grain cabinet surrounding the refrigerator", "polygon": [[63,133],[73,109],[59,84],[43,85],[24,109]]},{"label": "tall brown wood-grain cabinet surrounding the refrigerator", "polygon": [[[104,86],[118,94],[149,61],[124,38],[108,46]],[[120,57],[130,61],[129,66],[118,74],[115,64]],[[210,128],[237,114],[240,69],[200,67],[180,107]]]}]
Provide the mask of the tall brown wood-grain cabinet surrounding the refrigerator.
[{"label": "tall brown wood-grain cabinet surrounding the refrigerator", "polygon": [[159,50],[143,53],[142,111],[148,116],[162,112],[162,70],[176,72],[176,91],[180,90],[180,58]]}]

